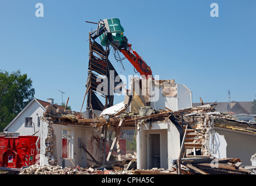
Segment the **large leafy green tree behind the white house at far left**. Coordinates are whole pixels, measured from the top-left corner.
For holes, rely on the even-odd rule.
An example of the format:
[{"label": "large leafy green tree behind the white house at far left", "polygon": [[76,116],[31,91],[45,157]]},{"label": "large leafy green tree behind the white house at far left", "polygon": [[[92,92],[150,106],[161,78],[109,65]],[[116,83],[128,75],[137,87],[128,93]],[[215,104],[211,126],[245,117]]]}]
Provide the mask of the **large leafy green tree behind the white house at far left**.
[{"label": "large leafy green tree behind the white house at far left", "polygon": [[27,74],[20,70],[0,70],[0,131],[33,99],[34,88]]}]

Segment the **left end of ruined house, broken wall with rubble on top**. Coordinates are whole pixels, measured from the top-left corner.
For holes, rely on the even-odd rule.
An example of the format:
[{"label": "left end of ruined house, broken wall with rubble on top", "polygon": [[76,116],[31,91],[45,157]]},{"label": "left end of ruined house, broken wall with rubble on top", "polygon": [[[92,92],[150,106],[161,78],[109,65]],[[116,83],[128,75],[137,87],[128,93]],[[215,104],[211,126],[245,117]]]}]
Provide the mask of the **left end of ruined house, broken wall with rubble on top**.
[{"label": "left end of ruined house, broken wall with rubble on top", "polygon": [[[51,107],[47,108],[44,113],[39,132],[41,165],[68,167],[79,164],[82,167],[91,166],[93,161],[87,156],[83,144],[94,158],[102,161],[102,153],[98,152],[97,144],[100,131],[90,125],[83,126],[72,123],[72,121],[76,121],[77,113],[73,112],[73,115],[70,113],[71,110],[64,112],[64,109],[56,110]],[[64,131],[67,134],[64,134]],[[64,148],[63,137],[67,136],[68,145]],[[67,153],[64,153],[65,150]]]}]

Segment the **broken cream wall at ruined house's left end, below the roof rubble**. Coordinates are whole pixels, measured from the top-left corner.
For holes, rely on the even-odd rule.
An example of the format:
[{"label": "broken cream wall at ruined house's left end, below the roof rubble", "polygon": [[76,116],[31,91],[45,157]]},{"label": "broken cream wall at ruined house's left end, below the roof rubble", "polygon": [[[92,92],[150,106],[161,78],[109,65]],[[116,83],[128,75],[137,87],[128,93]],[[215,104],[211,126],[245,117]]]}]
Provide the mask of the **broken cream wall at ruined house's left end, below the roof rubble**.
[{"label": "broken cream wall at ruined house's left end, below the roof rubble", "polygon": [[[79,164],[81,167],[92,166],[95,163],[83,150],[82,143],[85,144],[86,149],[96,160],[102,161],[102,154],[99,153],[99,145],[96,140],[100,135],[99,131],[95,131],[92,127],[49,124],[48,121],[44,121],[42,126],[40,133],[40,164],[66,167],[73,166],[73,164]],[[49,131],[49,128],[51,128],[51,131]],[[62,157],[62,130],[69,131],[68,158]],[[87,159],[89,160],[87,161]]]}]

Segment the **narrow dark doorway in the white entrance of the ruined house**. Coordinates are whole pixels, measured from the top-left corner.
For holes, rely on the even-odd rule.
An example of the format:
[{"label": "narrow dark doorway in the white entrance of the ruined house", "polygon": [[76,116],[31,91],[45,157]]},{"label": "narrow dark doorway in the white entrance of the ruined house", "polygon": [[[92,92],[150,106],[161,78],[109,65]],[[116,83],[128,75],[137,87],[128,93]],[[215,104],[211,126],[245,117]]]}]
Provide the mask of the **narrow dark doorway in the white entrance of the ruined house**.
[{"label": "narrow dark doorway in the white entrance of the ruined house", "polygon": [[149,169],[160,168],[160,134],[149,134]]}]

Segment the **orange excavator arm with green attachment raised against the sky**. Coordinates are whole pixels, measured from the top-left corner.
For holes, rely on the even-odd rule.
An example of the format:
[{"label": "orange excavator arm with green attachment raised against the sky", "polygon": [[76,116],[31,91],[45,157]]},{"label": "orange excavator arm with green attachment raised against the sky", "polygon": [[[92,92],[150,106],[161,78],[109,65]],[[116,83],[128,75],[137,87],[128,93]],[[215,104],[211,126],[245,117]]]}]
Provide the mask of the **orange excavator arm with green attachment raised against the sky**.
[{"label": "orange excavator arm with green attachment raised against the sky", "polygon": [[[108,49],[111,45],[115,52],[121,52],[125,58],[128,59],[130,63],[132,63],[136,71],[141,74],[142,78],[152,77],[152,71],[150,67],[146,64],[143,58],[132,49],[132,44],[129,44],[127,37],[124,36],[124,28],[121,26],[119,19],[103,19],[94,24],[97,24],[98,26],[97,30],[93,31],[90,35],[93,40],[95,40],[97,37],[100,37],[101,45],[107,47]],[[121,60],[125,59],[121,59],[119,53],[118,56],[119,58],[117,59],[115,56],[115,59],[119,60],[120,62]],[[124,69],[123,65],[122,68]]]}]

